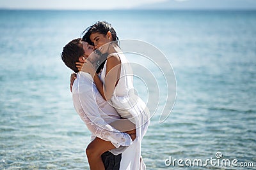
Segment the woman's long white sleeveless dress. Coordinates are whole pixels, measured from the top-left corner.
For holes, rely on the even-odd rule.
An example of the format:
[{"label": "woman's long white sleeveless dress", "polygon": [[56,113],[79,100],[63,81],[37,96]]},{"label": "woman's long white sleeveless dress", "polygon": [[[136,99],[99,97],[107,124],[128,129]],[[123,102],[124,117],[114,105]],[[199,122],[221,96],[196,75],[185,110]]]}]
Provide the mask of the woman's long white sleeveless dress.
[{"label": "woman's long white sleeveless dress", "polygon": [[[141,157],[141,140],[145,135],[150,122],[150,113],[146,104],[133,92],[133,74],[131,66],[123,53],[111,53],[111,56],[117,55],[121,60],[120,79],[115,87],[111,104],[122,118],[129,120],[136,125],[136,139],[132,145],[122,153],[120,170],[145,169],[145,164]],[[106,61],[100,80],[104,83],[106,76]]]}]

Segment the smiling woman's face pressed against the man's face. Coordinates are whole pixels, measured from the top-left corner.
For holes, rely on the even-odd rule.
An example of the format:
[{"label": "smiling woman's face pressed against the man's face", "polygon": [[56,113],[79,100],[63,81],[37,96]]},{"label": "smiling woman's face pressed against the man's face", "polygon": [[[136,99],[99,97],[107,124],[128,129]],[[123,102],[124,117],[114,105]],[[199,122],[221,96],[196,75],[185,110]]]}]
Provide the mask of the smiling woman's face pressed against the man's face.
[{"label": "smiling woman's face pressed against the man's face", "polygon": [[111,41],[109,34],[104,35],[100,34],[99,32],[92,33],[90,35],[90,39],[94,44],[94,48],[99,48],[100,46]]}]

